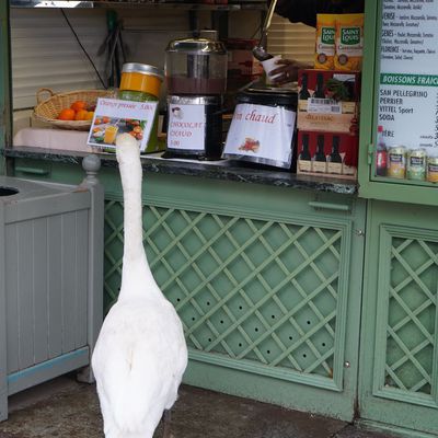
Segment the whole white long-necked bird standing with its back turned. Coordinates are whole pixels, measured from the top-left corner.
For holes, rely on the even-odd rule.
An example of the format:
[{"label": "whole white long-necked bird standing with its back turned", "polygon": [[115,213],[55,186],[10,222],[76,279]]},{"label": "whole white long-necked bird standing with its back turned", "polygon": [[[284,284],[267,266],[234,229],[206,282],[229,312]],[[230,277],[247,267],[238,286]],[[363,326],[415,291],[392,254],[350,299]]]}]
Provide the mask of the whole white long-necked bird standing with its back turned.
[{"label": "whole white long-necked bird standing with its back turned", "polygon": [[[97,343],[92,368],[106,438],[152,438],[172,407],[187,366],[182,323],[152,277],[142,244],[141,177],[137,141],[116,141],[124,191],[122,287]],[[164,422],[164,437],[170,437]]]}]

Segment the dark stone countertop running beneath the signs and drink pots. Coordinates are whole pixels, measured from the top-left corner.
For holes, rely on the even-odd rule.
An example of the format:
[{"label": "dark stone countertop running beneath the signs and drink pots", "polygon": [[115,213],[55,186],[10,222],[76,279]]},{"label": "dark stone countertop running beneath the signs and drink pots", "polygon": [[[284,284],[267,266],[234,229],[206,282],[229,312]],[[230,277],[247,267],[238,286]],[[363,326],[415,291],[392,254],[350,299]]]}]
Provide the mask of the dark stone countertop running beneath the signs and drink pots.
[{"label": "dark stone countertop running beneath the signs and drink pots", "polygon": [[[4,149],[1,153],[5,157],[47,160],[65,164],[80,164],[82,158],[89,154],[89,152],[42,149],[34,147]],[[103,166],[117,166],[114,153],[99,152],[97,155],[100,157]],[[160,154],[155,153],[143,155],[141,158],[141,163],[143,170],[151,173],[198,176],[249,184],[267,184],[277,187],[332,192],[344,195],[357,194],[357,183],[354,181],[335,177],[296,175],[288,171],[276,171],[262,168],[257,164],[251,165],[250,163],[240,163],[230,160],[197,162],[194,160],[162,159],[160,158]]]}]

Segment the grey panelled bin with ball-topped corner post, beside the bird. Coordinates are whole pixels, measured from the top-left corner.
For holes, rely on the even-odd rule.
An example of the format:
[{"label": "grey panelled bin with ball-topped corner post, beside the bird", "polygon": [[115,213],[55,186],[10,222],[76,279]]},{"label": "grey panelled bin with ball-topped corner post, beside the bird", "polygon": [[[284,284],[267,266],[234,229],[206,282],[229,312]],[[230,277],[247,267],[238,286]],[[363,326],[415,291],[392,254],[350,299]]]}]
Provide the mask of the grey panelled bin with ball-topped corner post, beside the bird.
[{"label": "grey panelled bin with ball-topped corner post, beside the bird", "polygon": [[93,380],[104,193],[99,158],[82,165],[79,186],[0,176],[0,420],[11,394],[77,369]]}]

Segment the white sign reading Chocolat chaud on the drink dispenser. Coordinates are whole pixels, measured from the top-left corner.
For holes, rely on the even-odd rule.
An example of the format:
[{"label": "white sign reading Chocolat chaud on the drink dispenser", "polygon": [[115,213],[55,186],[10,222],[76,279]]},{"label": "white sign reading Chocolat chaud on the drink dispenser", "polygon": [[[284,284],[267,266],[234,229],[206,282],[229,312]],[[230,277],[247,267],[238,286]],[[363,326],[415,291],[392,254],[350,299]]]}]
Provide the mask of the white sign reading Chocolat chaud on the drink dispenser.
[{"label": "white sign reading Chocolat chaud on the drink dispenser", "polygon": [[169,105],[168,148],[205,150],[204,105]]}]

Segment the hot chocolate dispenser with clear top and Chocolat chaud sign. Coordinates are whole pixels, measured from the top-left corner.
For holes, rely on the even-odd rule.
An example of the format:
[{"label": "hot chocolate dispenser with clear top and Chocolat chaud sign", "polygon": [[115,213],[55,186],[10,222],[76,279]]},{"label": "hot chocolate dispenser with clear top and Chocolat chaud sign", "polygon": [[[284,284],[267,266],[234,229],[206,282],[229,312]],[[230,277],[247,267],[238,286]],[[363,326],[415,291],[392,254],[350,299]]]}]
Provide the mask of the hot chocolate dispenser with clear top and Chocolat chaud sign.
[{"label": "hot chocolate dispenser with clear top and Chocolat chaud sign", "polygon": [[165,49],[168,142],[164,158],[219,160],[227,49],[205,37],[174,39]]}]

